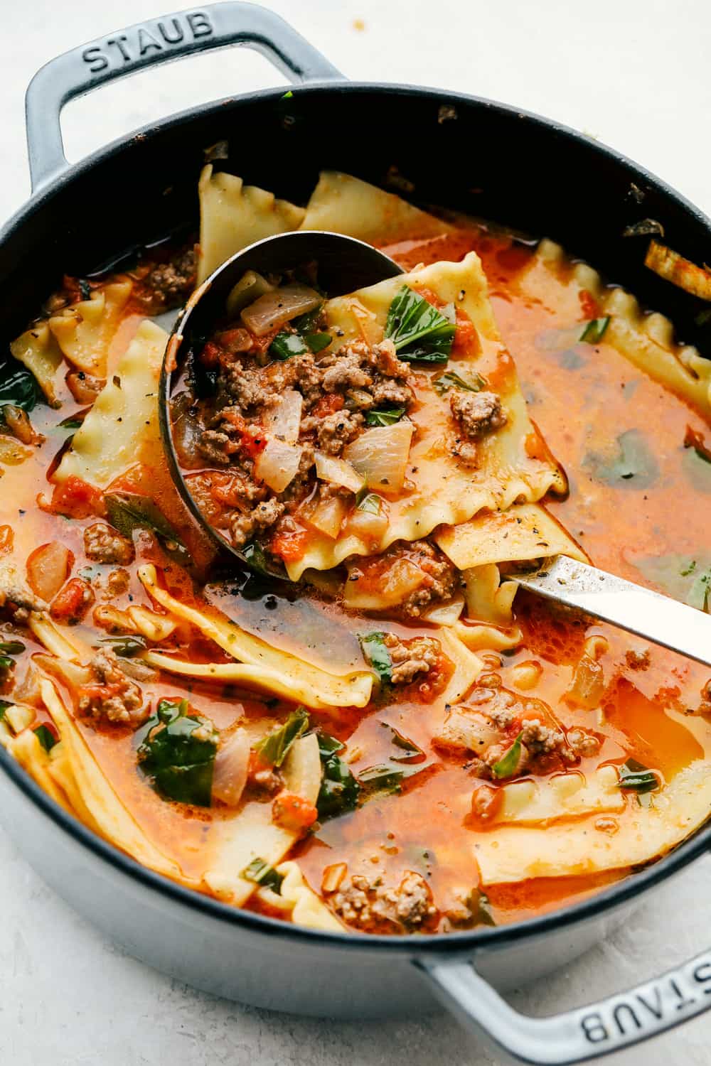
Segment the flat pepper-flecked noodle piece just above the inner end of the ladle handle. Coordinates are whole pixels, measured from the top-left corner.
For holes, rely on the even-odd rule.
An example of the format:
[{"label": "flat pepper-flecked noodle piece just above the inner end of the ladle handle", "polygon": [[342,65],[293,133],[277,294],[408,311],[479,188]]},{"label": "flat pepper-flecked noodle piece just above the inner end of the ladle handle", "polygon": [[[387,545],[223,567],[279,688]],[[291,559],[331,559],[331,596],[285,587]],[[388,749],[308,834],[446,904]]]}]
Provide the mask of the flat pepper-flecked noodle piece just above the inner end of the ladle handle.
[{"label": "flat pepper-flecked noodle piece just above the inner end of the ladle handle", "polygon": [[440,530],[434,539],[459,570],[551,555],[587,562],[582,548],[539,503],[483,512],[460,526]]}]

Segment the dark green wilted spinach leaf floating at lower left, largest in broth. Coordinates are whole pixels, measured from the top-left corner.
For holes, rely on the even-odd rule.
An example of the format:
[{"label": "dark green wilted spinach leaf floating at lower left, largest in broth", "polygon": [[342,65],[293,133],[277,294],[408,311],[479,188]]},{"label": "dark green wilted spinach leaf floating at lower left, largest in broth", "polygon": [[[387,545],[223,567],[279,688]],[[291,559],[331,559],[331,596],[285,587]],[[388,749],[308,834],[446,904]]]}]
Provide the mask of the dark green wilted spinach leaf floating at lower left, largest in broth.
[{"label": "dark green wilted spinach leaf floating at lower left, largest in broth", "polygon": [[162,798],[209,807],[219,736],[211,722],[188,710],[187,699],[160,700],[141,730],[139,763]]}]

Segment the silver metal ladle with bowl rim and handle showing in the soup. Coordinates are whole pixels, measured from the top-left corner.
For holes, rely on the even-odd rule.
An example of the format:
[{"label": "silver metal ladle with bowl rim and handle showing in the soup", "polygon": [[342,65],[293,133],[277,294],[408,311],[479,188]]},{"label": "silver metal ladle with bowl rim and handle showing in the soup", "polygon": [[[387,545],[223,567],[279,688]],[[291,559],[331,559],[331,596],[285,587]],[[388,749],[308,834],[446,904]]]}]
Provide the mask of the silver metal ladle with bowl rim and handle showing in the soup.
[{"label": "silver metal ladle with bowl rim and handle showing in the soup", "polygon": [[[404,273],[370,244],[341,233],[298,230],[268,237],[232,256],[196,289],[178,314],[163,361],[159,415],[171,474],[195,521],[243,566],[249,565],[248,560],[210,526],[185,484],[173,437],[171,397],[182,378],[191,352],[201,349],[214,324],[224,318],[227,296],[246,271],[282,274],[310,261],[318,262],[319,284],[329,296],[343,295]],[[546,560],[535,572],[517,574],[515,580],[546,599],[583,611],[711,666],[711,615],[696,608],[565,555]]]}]

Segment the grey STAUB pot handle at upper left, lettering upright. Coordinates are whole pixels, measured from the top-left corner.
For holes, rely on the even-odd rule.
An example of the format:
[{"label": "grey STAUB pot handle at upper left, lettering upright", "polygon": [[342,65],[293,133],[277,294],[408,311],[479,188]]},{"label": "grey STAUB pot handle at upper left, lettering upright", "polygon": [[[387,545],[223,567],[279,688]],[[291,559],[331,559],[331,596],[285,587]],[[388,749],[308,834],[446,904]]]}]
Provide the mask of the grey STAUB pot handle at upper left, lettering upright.
[{"label": "grey STAUB pot handle at upper left, lettering upright", "polygon": [[343,77],[282,18],[257,4],[228,0],[136,22],[58,55],[30,82],[25,110],[32,191],[69,165],[60,114],[75,96],[145,67],[226,45],[262,52],[291,82]]}]

